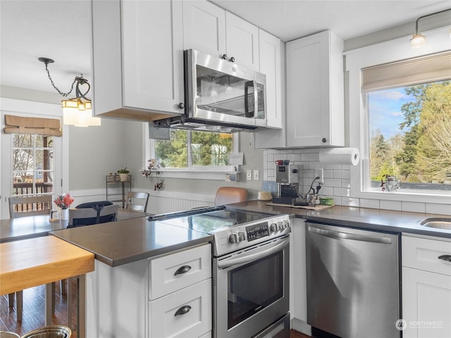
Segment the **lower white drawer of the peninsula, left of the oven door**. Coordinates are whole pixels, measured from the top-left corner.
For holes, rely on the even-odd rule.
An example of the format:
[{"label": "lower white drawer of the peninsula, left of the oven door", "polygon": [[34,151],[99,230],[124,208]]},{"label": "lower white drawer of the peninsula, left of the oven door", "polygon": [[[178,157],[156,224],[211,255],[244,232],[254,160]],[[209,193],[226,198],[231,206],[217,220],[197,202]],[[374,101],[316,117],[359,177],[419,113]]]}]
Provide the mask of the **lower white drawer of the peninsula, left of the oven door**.
[{"label": "lower white drawer of the peninsula, left of the oven door", "polygon": [[211,278],[150,301],[149,313],[150,337],[201,337],[211,331]]}]

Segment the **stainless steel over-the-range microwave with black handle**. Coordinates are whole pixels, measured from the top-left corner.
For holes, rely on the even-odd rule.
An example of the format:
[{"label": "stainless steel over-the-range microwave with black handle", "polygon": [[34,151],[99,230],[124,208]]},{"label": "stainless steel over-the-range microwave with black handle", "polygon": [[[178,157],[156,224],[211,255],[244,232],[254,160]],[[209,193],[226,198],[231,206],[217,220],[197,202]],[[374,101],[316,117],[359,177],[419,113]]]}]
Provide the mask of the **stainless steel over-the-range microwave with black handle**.
[{"label": "stainless steel over-the-range microwave with black handle", "polygon": [[233,132],[266,127],[266,76],[227,59],[189,49],[185,59],[185,114],[154,127]]}]

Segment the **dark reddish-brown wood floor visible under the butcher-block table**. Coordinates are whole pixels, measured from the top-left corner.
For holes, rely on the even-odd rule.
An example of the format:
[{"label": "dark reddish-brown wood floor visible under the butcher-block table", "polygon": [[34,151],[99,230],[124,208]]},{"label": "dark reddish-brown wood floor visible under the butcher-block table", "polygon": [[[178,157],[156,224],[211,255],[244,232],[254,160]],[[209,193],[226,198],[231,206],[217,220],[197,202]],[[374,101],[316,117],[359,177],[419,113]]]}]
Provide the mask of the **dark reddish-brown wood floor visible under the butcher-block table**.
[{"label": "dark reddish-brown wood floor visible under the butcher-block table", "polygon": [[[72,288],[75,292],[75,284]],[[32,287],[31,289],[23,290],[23,313],[22,320],[16,320],[16,303],[13,308],[8,306],[8,296],[0,296],[0,331],[16,332],[20,336],[39,327],[45,326],[45,301],[44,301],[44,285],[39,287]],[[75,299],[75,294],[73,295]],[[76,303],[71,304],[73,309],[72,323],[76,325]],[[55,314],[53,316],[52,325],[68,325],[68,311],[67,311],[67,295],[61,295],[59,283],[56,283],[55,292]],[[77,327],[70,327],[73,334],[72,337],[77,337]],[[310,338],[305,334],[295,330],[290,331],[290,338]]]}]

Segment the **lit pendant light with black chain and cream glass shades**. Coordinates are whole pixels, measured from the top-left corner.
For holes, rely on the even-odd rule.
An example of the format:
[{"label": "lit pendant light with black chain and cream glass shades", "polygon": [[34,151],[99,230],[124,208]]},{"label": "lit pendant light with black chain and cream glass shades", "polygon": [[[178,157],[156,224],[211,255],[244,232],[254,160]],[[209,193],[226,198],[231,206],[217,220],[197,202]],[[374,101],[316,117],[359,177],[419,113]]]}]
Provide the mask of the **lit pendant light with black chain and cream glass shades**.
[{"label": "lit pendant light with black chain and cream glass shades", "polygon": [[[61,96],[67,97],[73,91],[73,86],[76,84],[75,98],[64,99],[61,101],[61,105],[63,107],[63,123],[65,125],[75,125],[75,127],[100,125],[100,118],[92,117],[92,102],[86,97],[89,89],[91,89],[91,86],[83,75],[75,76],[72,86],[70,87],[70,91],[63,93],[58,89],[58,87],[55,86],[54,81],[51,80],[48,65],[49,63],[54,63],[55,61],[51,58],[38,58],[38,60],[45,64],[45,70],[47,71],[51,85]],[[87,87],[85,92],[81,92],[80,87],[83,86]]]}]

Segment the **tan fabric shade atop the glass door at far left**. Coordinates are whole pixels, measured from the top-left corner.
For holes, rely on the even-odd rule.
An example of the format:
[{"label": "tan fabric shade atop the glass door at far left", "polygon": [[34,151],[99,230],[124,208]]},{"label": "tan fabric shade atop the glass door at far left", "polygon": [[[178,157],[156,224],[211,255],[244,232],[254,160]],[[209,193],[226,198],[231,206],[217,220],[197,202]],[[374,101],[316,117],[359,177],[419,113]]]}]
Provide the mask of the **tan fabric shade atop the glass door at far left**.
[{"label": "tan fabric shade atop the glass door at far left", "polygon": [[5,115],[5,134],[38,134],[62,136],[61,120],[58,118],[25,118]]}]

